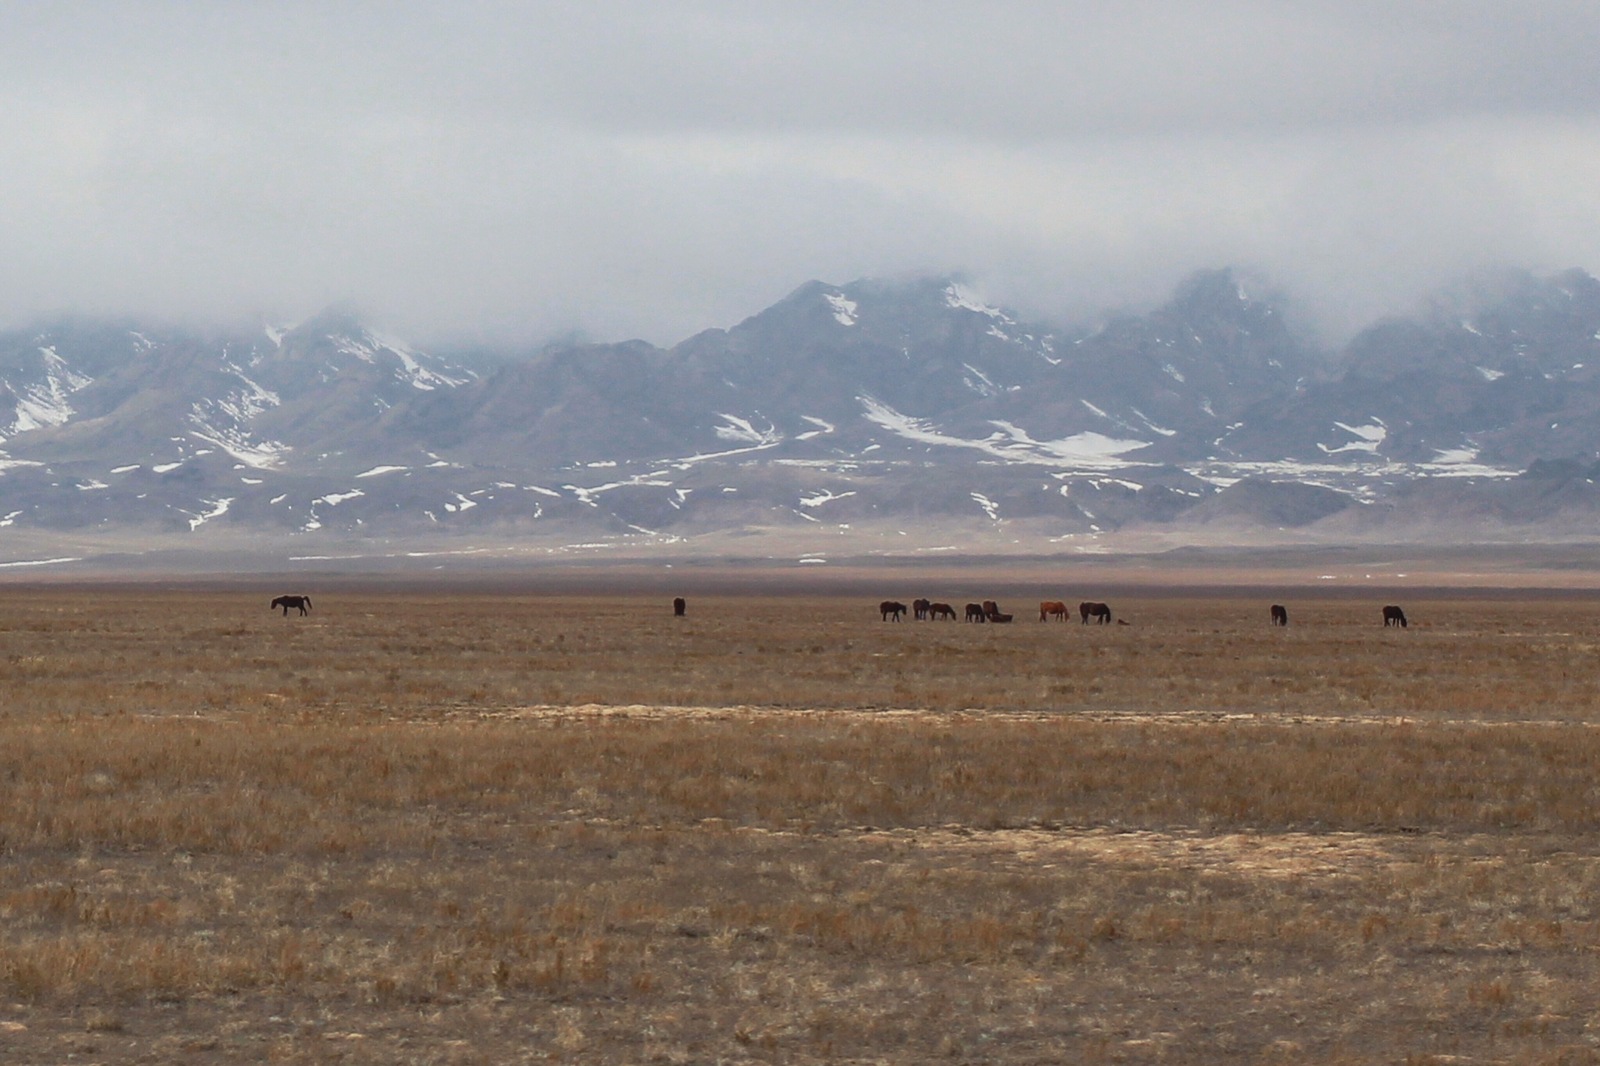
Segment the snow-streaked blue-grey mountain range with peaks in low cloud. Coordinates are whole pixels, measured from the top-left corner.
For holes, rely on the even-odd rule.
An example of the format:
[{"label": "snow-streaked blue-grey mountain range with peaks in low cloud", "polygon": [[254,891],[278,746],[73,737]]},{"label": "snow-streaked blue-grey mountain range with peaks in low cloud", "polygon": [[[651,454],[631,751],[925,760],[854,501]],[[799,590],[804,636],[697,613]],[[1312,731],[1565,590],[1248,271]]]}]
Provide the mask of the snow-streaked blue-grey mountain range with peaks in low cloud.
[{"label": "snow-streaked blue-grey mountain range with peaks in low cloud", "polygon": [[0,335],[0,437],[13,530],[1570,535],[1600,512],[1600,282],[1478,280],[1336,352],[1230,271],[1085,328],[949,279],[811,282],[672,349],[477,368],[344,312],[61,319]]}]

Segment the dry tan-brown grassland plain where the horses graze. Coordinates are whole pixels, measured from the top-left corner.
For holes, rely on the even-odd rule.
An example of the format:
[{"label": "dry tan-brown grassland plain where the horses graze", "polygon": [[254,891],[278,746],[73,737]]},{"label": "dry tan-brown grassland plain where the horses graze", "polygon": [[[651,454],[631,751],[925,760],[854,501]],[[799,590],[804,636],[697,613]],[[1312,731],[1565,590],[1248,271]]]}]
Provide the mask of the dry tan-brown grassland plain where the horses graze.
[{"label": "dry tan-brown grassland plain where the horses graze", "polygon": [[304,591],[3,592],[0,1061],[1600,1061],[1597,597]]}]

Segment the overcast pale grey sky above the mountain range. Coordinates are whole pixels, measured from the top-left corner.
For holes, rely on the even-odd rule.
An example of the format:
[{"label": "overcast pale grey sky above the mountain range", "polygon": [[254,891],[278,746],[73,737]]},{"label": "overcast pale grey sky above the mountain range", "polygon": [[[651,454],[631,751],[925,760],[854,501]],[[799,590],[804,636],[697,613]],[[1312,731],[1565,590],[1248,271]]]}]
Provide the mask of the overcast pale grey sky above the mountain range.
[{"label": "overcast pale grey sky above the mountain range", "polygon": [[670,344],[810,279],[1331,335],[1600,272],[1600,3],[0,0],[0,323]]}]

